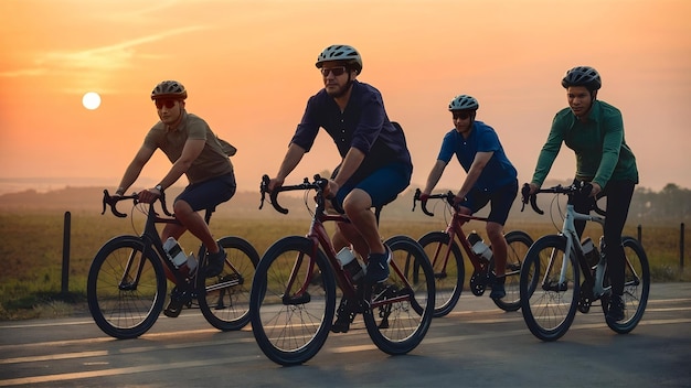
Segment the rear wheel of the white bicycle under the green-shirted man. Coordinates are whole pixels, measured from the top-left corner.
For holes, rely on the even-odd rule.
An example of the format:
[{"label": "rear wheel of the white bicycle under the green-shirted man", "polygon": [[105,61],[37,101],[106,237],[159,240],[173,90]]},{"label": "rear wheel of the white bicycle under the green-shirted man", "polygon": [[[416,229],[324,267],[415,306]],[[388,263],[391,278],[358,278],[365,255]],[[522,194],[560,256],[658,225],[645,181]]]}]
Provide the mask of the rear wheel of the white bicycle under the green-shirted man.
[{"label": "rear wheel of the white bicycle under the green-shirted man", "polygon": [[[607,322],[607,326],[619,334],[632,331],[644,316],[650,293],[650,268],[644,247],[634,237],[623,237],[626,267],[624,273],[624,320]],[[609,297],[603,297],[603,312],[607,315]]]}]

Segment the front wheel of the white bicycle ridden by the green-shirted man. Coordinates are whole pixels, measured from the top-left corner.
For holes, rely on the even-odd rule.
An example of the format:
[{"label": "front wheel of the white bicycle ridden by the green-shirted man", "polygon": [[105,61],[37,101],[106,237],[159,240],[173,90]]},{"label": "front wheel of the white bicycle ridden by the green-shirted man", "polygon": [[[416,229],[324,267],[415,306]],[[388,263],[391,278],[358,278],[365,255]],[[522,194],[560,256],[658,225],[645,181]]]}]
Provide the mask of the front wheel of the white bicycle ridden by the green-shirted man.
[{"label": "front wheel of the white bicycle ridden by the green-shirted man", "polygon": [[[523,320],[534,336],[556,341],[573,323],[580,298],[580,270],[566,255],[566,238],[544,236],[528,250],[521,268],[520,298]],[[562,267],[565,278],[560,282]],[[536,277],[536,278],[535,278]]]}]

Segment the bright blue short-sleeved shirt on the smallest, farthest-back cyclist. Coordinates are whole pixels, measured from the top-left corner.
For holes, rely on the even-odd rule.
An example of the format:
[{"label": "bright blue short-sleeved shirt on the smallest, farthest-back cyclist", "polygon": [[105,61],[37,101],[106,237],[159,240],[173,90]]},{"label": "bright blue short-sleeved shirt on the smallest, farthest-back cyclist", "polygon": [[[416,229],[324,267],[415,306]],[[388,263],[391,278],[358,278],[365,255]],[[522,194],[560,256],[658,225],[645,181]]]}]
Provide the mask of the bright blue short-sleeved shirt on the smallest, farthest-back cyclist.
[{"label": "bright blue short-sleeved shirt on the smallest, farthest-back cyclist", "polygon": [[482,169],[482,173],[475,183],[475,188],[492,192],[518,180],[518,172],[503,152],[497,132],[482,121],[472,123],[468,139],[464,139],[456,129],[446,133],[437,159],[448,164],[451,157],[456,154],[460,165],[468,172],[478,152],[493,152],[493,154]]}]

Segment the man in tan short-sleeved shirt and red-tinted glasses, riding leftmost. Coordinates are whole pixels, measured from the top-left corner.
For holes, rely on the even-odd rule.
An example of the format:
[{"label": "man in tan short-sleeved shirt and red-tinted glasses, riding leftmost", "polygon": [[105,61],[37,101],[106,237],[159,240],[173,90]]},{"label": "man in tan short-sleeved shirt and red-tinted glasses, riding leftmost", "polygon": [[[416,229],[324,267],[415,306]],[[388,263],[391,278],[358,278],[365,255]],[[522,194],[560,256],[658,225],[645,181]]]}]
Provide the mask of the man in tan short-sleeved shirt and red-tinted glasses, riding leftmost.
[{"label": "man in tan short-sleeved shirt and red-tinted glasses, riding leftmost", "polygon": [[[168,237],[180,239],[185,230],[190,230],[208,249],[208,266],[203,269],[203,274],[210,278],[222,272],[226,255],[198,212],[214,209],[235,194],[235,174],[228,159],[235,150],[227,142],[220,140],[202,118],[188,114],[184,109],[187,97],[187,89],[176,80],[163,80],[153,88],[151,99],[160,121],[147,133],[115,193],[123,195],[135,183],[153,152],[157,149],[163,151],[172,166],[159,184],[139,192],[139,202],[156,201],[163,190],[170,187],[183,174],[187,175],[190,184],[173,203],[173,212],[180,224],[166,224],[161,239],[163,241]],[[174,280],[170,273],[167,276]]]}]

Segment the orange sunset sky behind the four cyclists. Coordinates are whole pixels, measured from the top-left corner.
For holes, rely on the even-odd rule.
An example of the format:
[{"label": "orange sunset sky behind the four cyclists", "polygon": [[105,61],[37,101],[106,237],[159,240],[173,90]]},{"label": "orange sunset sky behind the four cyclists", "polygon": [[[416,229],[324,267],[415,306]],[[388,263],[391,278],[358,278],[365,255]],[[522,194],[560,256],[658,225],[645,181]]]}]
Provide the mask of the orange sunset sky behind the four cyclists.
[{"label": "orange sunset sky behind the four cyclists", "polygon": [[[624,114],[640,185],[691,187],[689,17],[688,0],[2,0],[0,183],[114,190],[157,120],[150,90],[174,78],[188,111],[237,147],[238,190],[258,191],[322,87],[317,55],[346,43],[363,56],[359,79],[406,131],[413,188],[451,128],[457,94],[479,100],[478,119],[530,180],[566,106],[561,77],[584,64],[603,76],[599,98]],[[82,106],[87,91],[100,94],[98,109]],[[337,163],[322,132],[286,183]],[[132,190],[169,165],[159,151]],[[574,165],[564,147],[550,177],[568,179]],[[453,161],[437,187],[464,177]]]}]

